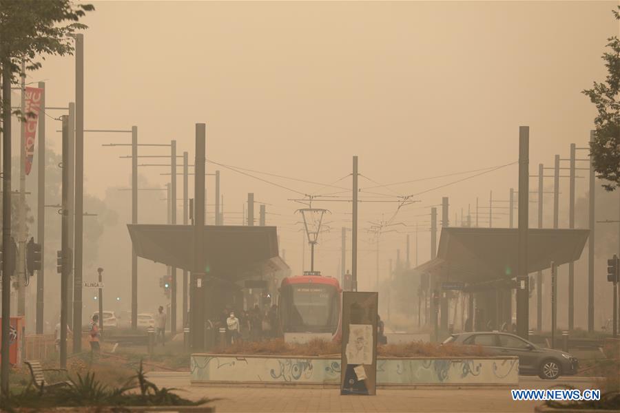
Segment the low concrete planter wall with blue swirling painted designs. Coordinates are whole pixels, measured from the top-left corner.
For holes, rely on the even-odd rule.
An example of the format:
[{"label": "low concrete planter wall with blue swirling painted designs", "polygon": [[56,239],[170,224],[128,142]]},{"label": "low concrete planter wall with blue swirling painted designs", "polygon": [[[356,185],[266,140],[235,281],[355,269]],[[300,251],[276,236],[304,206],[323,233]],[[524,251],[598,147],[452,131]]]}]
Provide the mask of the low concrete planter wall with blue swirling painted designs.
[{"label": "low concrete planter wall with blue swirling painted designs", "polygon": [[[333,357],[192,354],[194,385],[340,385],[340,359]],[[506,386],[519,383],[517,357],[393,358],[377,360],[382,387],[451,385]]]}]

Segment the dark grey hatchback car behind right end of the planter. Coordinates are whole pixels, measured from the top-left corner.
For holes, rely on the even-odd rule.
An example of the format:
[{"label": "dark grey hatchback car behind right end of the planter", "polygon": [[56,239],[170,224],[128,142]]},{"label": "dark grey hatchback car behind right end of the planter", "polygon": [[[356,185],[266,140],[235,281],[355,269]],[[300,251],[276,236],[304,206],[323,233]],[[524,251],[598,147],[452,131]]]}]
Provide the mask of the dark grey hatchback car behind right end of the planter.
[{"label": "dark grey hatchback car behind right end of the planter", "polygon": [[571,354],[536,346],[507,332],[464,332],[451,335],[446,343],[482,346],[495,356],[517,356],[519,374],[537,374],[541,379],[576,374],[579,368],[579,361]]}]

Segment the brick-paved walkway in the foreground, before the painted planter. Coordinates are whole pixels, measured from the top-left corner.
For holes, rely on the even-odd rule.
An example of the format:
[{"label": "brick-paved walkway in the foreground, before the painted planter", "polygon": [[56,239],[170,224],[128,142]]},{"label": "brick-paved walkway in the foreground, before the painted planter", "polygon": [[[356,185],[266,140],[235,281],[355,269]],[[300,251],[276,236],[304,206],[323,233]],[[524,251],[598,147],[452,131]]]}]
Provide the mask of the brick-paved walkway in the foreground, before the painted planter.
[{"label": "brick-paved walkway in the foreground, before the painted planter", "polygon": [[[156,385],[174,387],[189,399],[221,399],[223,412],[533,412],[540,402],[513,401],[510,389],[377,390],[376,396],[340,396],[338,389],[202,387],[189,385],[189,373],[152,372]],[[587,387],[587,380],[542,381],[524,377],[520,388],[548,388],[566,383]]]}]

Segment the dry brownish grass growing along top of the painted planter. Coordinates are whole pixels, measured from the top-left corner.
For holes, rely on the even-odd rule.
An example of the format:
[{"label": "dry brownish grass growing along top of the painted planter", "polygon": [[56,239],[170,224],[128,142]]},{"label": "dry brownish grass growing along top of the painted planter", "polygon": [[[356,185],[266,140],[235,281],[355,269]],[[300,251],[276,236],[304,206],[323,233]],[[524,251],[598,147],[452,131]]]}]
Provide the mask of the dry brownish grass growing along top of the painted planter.
[{"label": "dry brownish grass growing along top of the painted planter", "polygon": [[[307,344],[285,343],[283,339],[260,341],[257,343],[236,343],[228,347],[218,347],[212,352],[217,354],[256,354],[282,356],[340,356],[341,344],[320,339]],[[380,357],[455,357],[484,356],[487,353],[480,346],[459,346],[455,344],[440,345],[414,341],[406,344],[388,344],[378,346]]]}]

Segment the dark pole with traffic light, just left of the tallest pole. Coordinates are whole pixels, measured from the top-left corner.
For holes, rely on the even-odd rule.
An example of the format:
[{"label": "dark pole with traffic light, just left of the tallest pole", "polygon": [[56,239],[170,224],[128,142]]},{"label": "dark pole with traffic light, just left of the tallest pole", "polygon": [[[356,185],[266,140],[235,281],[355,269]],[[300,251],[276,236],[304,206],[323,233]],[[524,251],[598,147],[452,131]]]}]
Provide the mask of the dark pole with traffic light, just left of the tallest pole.
[{"label": "dark pole with traffic light, just left of the tallest pole", "polygon": [[63,185],[62,185],[62,228],[61,228],[61,328],[60,328],[60,367],[67,367],[67,295],[69,278],[69,116],[63,115]]}]

